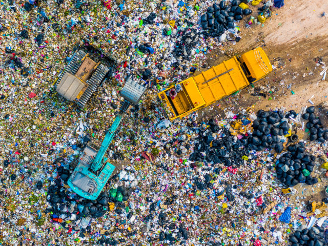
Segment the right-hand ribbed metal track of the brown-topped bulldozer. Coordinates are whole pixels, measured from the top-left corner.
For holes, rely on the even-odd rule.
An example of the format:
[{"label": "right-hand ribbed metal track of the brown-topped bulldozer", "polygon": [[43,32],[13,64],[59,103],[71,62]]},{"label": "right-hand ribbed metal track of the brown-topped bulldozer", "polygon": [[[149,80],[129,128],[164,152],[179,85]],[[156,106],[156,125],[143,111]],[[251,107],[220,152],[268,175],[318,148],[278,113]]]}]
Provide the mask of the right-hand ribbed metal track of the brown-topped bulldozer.
[{"label": "right-hand ribbed metal track of the brown-topped bulldozer", "polygon": [[100,64],[97,67],[96,71],[94,71],[91,78],[87,80],[88,87],[86,91],[83,93],[83,95],[79,100],[75,101],[75,103],[78,106],[83,108],[86,105],[87,101],[90,99],[92,94],[97,90],[101,82],[104,80],[108,71],[109,68],[105,67],[103,64]]}]

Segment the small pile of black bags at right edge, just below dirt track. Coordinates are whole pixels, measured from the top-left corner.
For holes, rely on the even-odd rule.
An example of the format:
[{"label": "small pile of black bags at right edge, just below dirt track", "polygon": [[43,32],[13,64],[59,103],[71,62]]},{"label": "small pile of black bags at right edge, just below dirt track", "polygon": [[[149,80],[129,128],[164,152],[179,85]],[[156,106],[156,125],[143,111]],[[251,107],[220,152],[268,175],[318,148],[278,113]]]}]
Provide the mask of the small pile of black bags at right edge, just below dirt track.
[{"label": "small pile of black bags at right edge, just below dirt track", "polygon": [[328,140],[328,131],[323,129],[321,121],[315,115],[315,107],[311,106],[306,109],[306,113],[302,114],[303,119],[308,119],[306,128],[310,130],[310,141],[324,142]]}]

